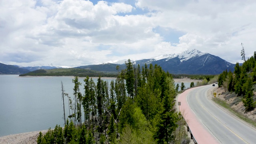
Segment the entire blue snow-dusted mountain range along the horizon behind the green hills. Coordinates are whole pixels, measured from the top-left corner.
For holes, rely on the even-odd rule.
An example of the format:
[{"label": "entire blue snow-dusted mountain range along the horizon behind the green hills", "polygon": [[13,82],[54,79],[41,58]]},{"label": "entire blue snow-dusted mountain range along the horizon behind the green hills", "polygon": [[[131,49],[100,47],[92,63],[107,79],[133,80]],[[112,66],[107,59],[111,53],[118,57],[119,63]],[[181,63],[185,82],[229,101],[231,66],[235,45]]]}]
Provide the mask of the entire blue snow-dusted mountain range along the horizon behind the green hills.
[{"label": "entire blue snow-dusted mountain range along the horizon behind the green hills", "polygon": [[[99,64],[78,66],[76,68],[86,69],[86,70],[96,70],[104,72],[117,72],[116,66],[120,67],[120,70],[125,69],[125,60],[112,61],[112,62],[102,62]],[[156,56],[150,59],[136,60],[133,62],[134,65],[140,64],[158,64],[163,70],[168,71],[171,74],[220,74],[224,70],[234,70],[235,64],[227,62],[218,56],[212,54],[203,53],[196,49],[186,50],[180,54],[164,54]],[[2,64],[3,65],[3,64]],[[10,65],[7,65],[10,66]],[[17,68],[22,68],[29,71],[34,71],[38,69],[54,69],[54,68],[68,68],[66,66],[53,66],[52,64],[48,66],[30,66],[22,67],[16,66]],[[13,67],[12,67],[13,68]],[[10,68],[9,68],[10,69]],[[0,67],[0,74],[20,74],[26,73],[27,71],[14,71],[4,73],[2,67]]]}]

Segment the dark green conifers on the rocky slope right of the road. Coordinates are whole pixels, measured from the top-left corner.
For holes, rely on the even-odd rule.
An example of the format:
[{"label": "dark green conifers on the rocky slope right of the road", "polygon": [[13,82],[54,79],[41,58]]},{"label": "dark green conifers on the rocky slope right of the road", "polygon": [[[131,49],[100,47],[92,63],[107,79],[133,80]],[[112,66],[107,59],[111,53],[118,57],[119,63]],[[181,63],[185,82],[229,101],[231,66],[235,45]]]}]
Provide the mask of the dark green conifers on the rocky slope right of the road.
[{"label": "dark green conifers on the rocky slope right of the road", "polygon": [[[244,49],[243,49],[244,50]],[[242,102],[246,111],[251,111],[256,106],[254,90],[256,88],[256,52],[254,56],[245,60],[244,51],[241,52],[242,66],[236,63],[234,72],[224,71],[218,77],[218,86],[224,87],[225,91],[235,92]]]}]

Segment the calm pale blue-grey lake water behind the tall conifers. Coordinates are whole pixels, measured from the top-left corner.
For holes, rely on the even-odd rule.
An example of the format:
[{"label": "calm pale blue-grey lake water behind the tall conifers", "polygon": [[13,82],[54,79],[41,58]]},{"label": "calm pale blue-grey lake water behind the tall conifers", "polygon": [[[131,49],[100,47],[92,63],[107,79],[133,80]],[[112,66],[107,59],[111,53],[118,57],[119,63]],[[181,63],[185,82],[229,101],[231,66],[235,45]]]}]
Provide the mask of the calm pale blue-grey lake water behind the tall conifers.
[{"label": "calm pale blue-grey lake water behind the tall conifers", "polygon": [[[19,77],[0,75],[0,136],[64,126],[61,81],[70,96],[74,84],[68,76]],[[93,78],[95,83],[97,78]],[[115,78],[102,78],[110,81]],[[83,92],[84,78],[80,91]],[[177,83],[176,83],[177,84]],[[179,83],[179,85],[181,85]],[[189,87],[190,83],[185,83]],[[68,103],[65,97],[65,111]]]}]

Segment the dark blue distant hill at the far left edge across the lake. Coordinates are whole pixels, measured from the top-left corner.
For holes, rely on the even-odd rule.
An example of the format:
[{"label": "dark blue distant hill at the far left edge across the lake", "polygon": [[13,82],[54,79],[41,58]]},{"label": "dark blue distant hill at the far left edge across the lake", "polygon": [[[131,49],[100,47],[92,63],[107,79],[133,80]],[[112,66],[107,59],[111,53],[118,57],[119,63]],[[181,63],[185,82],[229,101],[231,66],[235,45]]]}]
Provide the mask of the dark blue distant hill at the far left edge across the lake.
[{"label": "dark blue distant hill at the far left edge across the lake", "polygon": [[0,74],[25,74],[30,72],[24,68],[0,63]]}]

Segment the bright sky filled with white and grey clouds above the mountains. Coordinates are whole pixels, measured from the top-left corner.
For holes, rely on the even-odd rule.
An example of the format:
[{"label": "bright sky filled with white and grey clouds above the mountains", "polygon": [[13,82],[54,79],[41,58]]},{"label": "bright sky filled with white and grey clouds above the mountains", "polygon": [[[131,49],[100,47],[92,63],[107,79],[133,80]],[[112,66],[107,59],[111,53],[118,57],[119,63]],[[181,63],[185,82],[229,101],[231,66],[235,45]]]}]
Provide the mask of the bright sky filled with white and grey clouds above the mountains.
[{"label": "bright sky filled with white and grey clouds above the mountains", "polygon": [[85,66],[197,49],[256,51],[255,0],[0,0],[0,62]]}]

